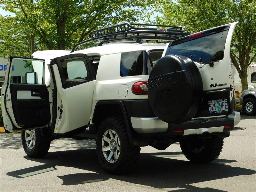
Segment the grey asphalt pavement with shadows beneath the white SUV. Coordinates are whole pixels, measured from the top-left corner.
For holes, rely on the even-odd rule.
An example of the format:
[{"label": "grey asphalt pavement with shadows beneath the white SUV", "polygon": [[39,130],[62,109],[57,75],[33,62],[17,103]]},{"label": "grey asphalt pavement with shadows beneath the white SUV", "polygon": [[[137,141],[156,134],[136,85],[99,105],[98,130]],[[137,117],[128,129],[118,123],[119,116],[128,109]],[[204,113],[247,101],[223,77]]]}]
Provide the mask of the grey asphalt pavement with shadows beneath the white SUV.
[{"label": "grey asphalt pavement with shadows beneath the white SUV", "polygon": [[122,176],[102,170],[94,140],[54,140],[47,156],[33,159],[20,133],[0,133],[0,191],[256,191],[256,119],[241,118],[212,163],[189,162],[178,143],[164,151],[148,146]]}]

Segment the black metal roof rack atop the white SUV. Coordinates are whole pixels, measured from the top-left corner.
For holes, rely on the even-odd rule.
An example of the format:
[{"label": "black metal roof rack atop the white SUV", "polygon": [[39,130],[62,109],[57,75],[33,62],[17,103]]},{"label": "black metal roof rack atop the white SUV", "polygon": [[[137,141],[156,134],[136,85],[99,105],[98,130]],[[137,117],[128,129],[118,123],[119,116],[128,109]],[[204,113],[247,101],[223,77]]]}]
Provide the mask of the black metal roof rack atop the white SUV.
[{"label": "black metal roof rack atop the white SUV", "polygon": [[184,33],[184,28],[180,26],[122,23],[119,25],[114,25],[112,27],[92,31],[89,35],[90,39],[76,44],[71,52],[74,52],[78,46],[90,43],[92,41],[100,42],[99,45],[110,42],[170,42],[180,37],[187,36],[189,34],[190,33]]}]

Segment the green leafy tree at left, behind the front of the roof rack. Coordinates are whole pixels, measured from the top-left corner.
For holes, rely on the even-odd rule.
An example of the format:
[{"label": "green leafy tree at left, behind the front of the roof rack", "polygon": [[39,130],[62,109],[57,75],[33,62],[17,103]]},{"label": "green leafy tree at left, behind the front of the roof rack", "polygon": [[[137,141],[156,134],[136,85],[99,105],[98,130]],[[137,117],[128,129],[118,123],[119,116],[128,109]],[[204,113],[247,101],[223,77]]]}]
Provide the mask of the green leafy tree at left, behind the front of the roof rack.
[{"label": "green leafy tree at left, behind the front of the roof rack", "polygon": [[36,50],[67,50],[92,30],[138,21],[152,0],[1,0],[15,16],[0,15],[0,56],[29,56],[30,34]]}]

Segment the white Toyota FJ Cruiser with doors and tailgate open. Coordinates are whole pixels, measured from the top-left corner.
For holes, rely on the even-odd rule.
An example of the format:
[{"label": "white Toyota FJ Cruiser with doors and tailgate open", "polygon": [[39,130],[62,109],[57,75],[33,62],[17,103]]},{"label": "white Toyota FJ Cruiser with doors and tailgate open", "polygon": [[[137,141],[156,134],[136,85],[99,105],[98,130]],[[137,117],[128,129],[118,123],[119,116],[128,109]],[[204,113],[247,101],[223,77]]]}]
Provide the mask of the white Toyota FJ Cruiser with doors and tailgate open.
[{"label": "white Toyota FJ Cruiser with doors and tailgate open", "polygon": [[93,31],[71,52],[10,57],[1,92],[5,131],[21,130],[35,158],[54,139],[95,139],[112,174],[130,171],[148,145],[180,142],[190,161],[211,162],[240,121],[229,59],[235,26],[190,35],[124,23]]}]

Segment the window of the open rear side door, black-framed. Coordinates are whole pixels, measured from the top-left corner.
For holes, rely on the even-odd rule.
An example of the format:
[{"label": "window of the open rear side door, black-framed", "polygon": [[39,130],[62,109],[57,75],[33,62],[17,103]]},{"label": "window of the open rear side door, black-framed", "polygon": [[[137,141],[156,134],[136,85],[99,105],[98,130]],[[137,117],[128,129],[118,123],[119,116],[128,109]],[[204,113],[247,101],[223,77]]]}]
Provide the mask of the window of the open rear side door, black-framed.
[{"label": "window of the open rear side door, black-framed", "polygon": [[[91,80],[88,63],[83,57],[61,60],[61,66],[64,72],[66,87],[82,84]],[[66,88],[65,86],[63,86]]]}]

